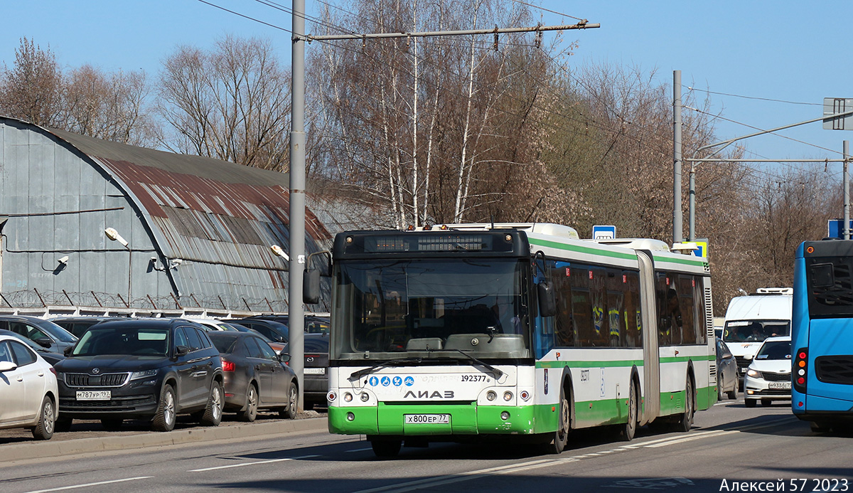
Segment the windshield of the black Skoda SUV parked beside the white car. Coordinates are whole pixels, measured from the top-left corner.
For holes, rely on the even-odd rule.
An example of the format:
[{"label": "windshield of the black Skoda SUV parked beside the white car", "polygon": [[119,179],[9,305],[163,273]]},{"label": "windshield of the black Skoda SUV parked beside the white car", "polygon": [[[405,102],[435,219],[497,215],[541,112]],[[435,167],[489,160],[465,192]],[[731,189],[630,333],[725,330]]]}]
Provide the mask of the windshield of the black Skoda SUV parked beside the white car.
[{"label": "windshield of the black Skoda SUV parked beside the white car", "polygon": [[74,346],[73,356],[128,355],[165,357],[171,341],[168,328],[93,326]]}]

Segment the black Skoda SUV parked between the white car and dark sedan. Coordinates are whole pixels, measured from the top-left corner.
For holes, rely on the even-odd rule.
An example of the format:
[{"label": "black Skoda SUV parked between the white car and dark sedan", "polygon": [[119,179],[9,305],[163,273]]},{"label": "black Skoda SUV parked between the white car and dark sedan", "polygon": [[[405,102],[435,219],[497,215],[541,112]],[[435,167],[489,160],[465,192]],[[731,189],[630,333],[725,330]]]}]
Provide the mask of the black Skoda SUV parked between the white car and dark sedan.
[{"label": "black Skoda SUV parked between the white car and dark sedan", "polygon": [[224,404],[222,360],[199,324],[182,319],[128,319],[93,326],[56,363],[57,429],[73,419],[152,420],[155,431],[193,414],[218,426]]}]

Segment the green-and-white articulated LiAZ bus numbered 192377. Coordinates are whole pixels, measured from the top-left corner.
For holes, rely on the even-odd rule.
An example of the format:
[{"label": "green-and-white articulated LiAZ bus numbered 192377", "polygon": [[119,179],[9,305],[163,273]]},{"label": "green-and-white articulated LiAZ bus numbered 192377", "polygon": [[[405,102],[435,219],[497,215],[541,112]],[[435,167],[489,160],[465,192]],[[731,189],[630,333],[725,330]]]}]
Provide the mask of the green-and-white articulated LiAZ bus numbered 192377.
[{"label": "green-and-white articulated LiAZ bus numbered 192377", "polygon": [[376,455],[487,435],[560,453],[577,428],[688,431],[717,399],[707,260],[662,241],[452,224],[347,231],[332,257],[328,427]]}]

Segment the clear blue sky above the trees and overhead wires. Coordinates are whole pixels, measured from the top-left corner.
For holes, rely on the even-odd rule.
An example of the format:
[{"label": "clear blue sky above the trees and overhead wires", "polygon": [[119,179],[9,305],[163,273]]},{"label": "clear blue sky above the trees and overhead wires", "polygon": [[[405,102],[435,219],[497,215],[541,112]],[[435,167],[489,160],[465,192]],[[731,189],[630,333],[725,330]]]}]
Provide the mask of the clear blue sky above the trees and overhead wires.
[{"label": "clear blue sky above the trees and overhead wires", "polygon": [[[276,26],[291,26],[290,14],[255,0],[208,1]],[[276,1],[287,8],[291,5],[287,0]],[[679,69],[684,85],[701,90],[807,103],[712,94],[713,110],[736,122],[768,129],[821,116],[818,105],[824,97],[853,98],[850,36],[844,31],[844,22],[853,18],[851,2],[525,1],[601,23],[600,29],[566,34],[567,40],[579,43],[569,58],[571,65],[637,66],[655,70],[665,83],[671,83],[672,71]],[[321,5],[316,0],[305,3],[309,11]],[[537,12],[546,25],[575,22]],[[7,0],[0,4],[0,61],[7,66],[15,60],[19,39],[26,36],[49,46],[64,67],[89,63],[106,71],[142,68],[155,78],[160,61],[177,45],[206,48],[224,34],[268,37],[289,63],[287,32],[198,0]],[[744,125],[717,122],[721,139],[752,131]],[[757,157],[837,159],[842,141],[853,140],[853,131],[825,131],[820,123],[783,134],[807,144],[778,136],[744,143]],[[774,166],[781,165],[768,169]],[[816,166],[822,170],[822,165]]]}]

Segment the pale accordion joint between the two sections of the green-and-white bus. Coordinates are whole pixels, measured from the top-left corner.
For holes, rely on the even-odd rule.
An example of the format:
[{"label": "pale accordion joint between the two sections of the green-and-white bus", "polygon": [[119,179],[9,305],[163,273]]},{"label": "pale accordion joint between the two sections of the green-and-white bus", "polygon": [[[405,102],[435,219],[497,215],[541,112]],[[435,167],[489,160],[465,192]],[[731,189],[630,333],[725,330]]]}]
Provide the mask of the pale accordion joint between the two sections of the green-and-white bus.
[{"label": "pale accordion joint between the two sections of the green-and-white bus", "polygon": [[640,423],[660,415],[660,355],[658,354],[657,305],[654,299],[654,261],[651,252],[637,251],[640,261],[640,310],[643,346],[643,408]]}]

